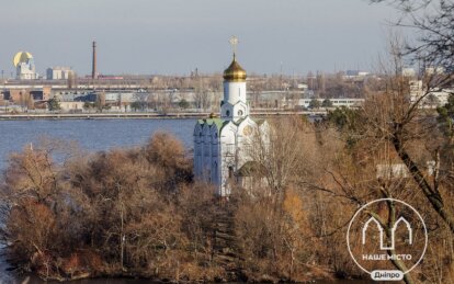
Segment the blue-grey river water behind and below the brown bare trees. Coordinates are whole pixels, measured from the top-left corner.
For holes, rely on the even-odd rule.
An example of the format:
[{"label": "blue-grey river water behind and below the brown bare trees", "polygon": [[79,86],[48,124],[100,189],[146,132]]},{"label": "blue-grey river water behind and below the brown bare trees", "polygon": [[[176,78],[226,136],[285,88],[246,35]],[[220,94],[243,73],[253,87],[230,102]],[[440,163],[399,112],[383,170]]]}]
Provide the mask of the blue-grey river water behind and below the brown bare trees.
[{"label": "blue-grey river water behind and below the brown bare trees", "polygon": [[[48,121],[0,121],[0,172],[7,168],[8,157],[21,151],[41,137],[76,140],[82,149],[90,151],[109,150],[115,147],[144,145],[156,132],[174,134],[183,144],[192,148],[192,130],[195,120],[48,120]],[[25,277],[15,276],[7,271],[0,248],[0,284],[21,283]],[[30,280],[30,279],[27,279]],[[29,283],[44,283],[31,279]],[[75,284],[143,284],[137,280],[87,280]],[[368,281],[317,282],[328,283],[372,283]]]}]

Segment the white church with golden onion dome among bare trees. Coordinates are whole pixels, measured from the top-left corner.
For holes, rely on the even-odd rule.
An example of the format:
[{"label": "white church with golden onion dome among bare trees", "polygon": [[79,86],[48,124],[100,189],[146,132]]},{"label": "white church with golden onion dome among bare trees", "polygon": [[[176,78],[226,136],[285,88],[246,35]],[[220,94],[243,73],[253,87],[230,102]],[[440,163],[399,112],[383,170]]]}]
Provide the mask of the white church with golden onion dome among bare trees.
[{"label": "white church with golden onion dome among bare trees", "polygon": [[258,133],[266,133],[264,120],[249,115],[246,100],[246,70],[236,60],[224,71],[224,100],[219,117],[198,120],[194,128],[194,175],[212,183],[216,194],[231,194],[232,184],[245,186],[250,172],[250,147]]}]

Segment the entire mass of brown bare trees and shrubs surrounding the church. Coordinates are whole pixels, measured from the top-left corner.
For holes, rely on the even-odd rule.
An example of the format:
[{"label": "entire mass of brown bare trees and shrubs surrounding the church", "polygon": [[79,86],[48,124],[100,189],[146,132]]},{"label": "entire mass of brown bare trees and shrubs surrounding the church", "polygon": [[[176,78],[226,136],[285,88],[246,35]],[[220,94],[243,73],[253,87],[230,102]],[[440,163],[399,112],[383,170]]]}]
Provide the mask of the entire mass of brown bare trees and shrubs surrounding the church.
[{"label": "entire mass of brown bare trees and shrubs surrounding the church", "polygon": [[[228,202],[193,180],[192,160],[168,134],[92,155],[65,143],[26,148],[0,184],[1,241],[18,270],[47,280],[368,277],[349,255],[347,225],[359,206],[394,197],[429,228],[424,261],[405,282],[452,283],[454,99],[435,112],[410,103],[408,92],[408,79],[391,75],[360,110],[319,123],[270,121],[247,151],[258,166],[251,186],[234,188]],[[387,171],[391,164],[407,174]],[[393,207],[370,213],[387,234]]]}]

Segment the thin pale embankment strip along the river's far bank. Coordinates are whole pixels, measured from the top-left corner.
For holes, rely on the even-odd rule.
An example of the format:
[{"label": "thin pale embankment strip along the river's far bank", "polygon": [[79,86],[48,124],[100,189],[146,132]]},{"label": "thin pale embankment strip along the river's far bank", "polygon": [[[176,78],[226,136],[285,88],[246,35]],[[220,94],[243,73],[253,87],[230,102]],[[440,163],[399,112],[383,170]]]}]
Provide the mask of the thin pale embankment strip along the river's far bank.
[{"label": "thin pale embankment strip along the river's far bank", "polygon": [[[270,111],[251,112],[251,116],[272,117],[281,115],[308,115],[324,116],[326,111],[295,112],[295,111]],[[31,120],[185,120],[206,118],[212,113],[21,113],[0,114],[0,121],[31,121]]]}]

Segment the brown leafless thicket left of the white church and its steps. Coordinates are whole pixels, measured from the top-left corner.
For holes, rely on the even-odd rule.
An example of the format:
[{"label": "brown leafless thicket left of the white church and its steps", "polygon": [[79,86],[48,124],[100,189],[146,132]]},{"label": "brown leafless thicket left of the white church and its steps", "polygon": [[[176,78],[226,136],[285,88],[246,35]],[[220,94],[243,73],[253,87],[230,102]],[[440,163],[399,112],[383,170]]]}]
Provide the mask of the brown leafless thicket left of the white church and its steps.
[{"label": "brown leafless thicket left of the white church and its steps", "polygon": [[213,196],[191,183],[178,140],[157,134],[140,149],[72,154],[64,163],[53,161],[54,146],[13,155],[4,173],[1,229],[12,263],[43,279],[212,277],[198,261],[208,261],[209,216],[200,211]]}]

